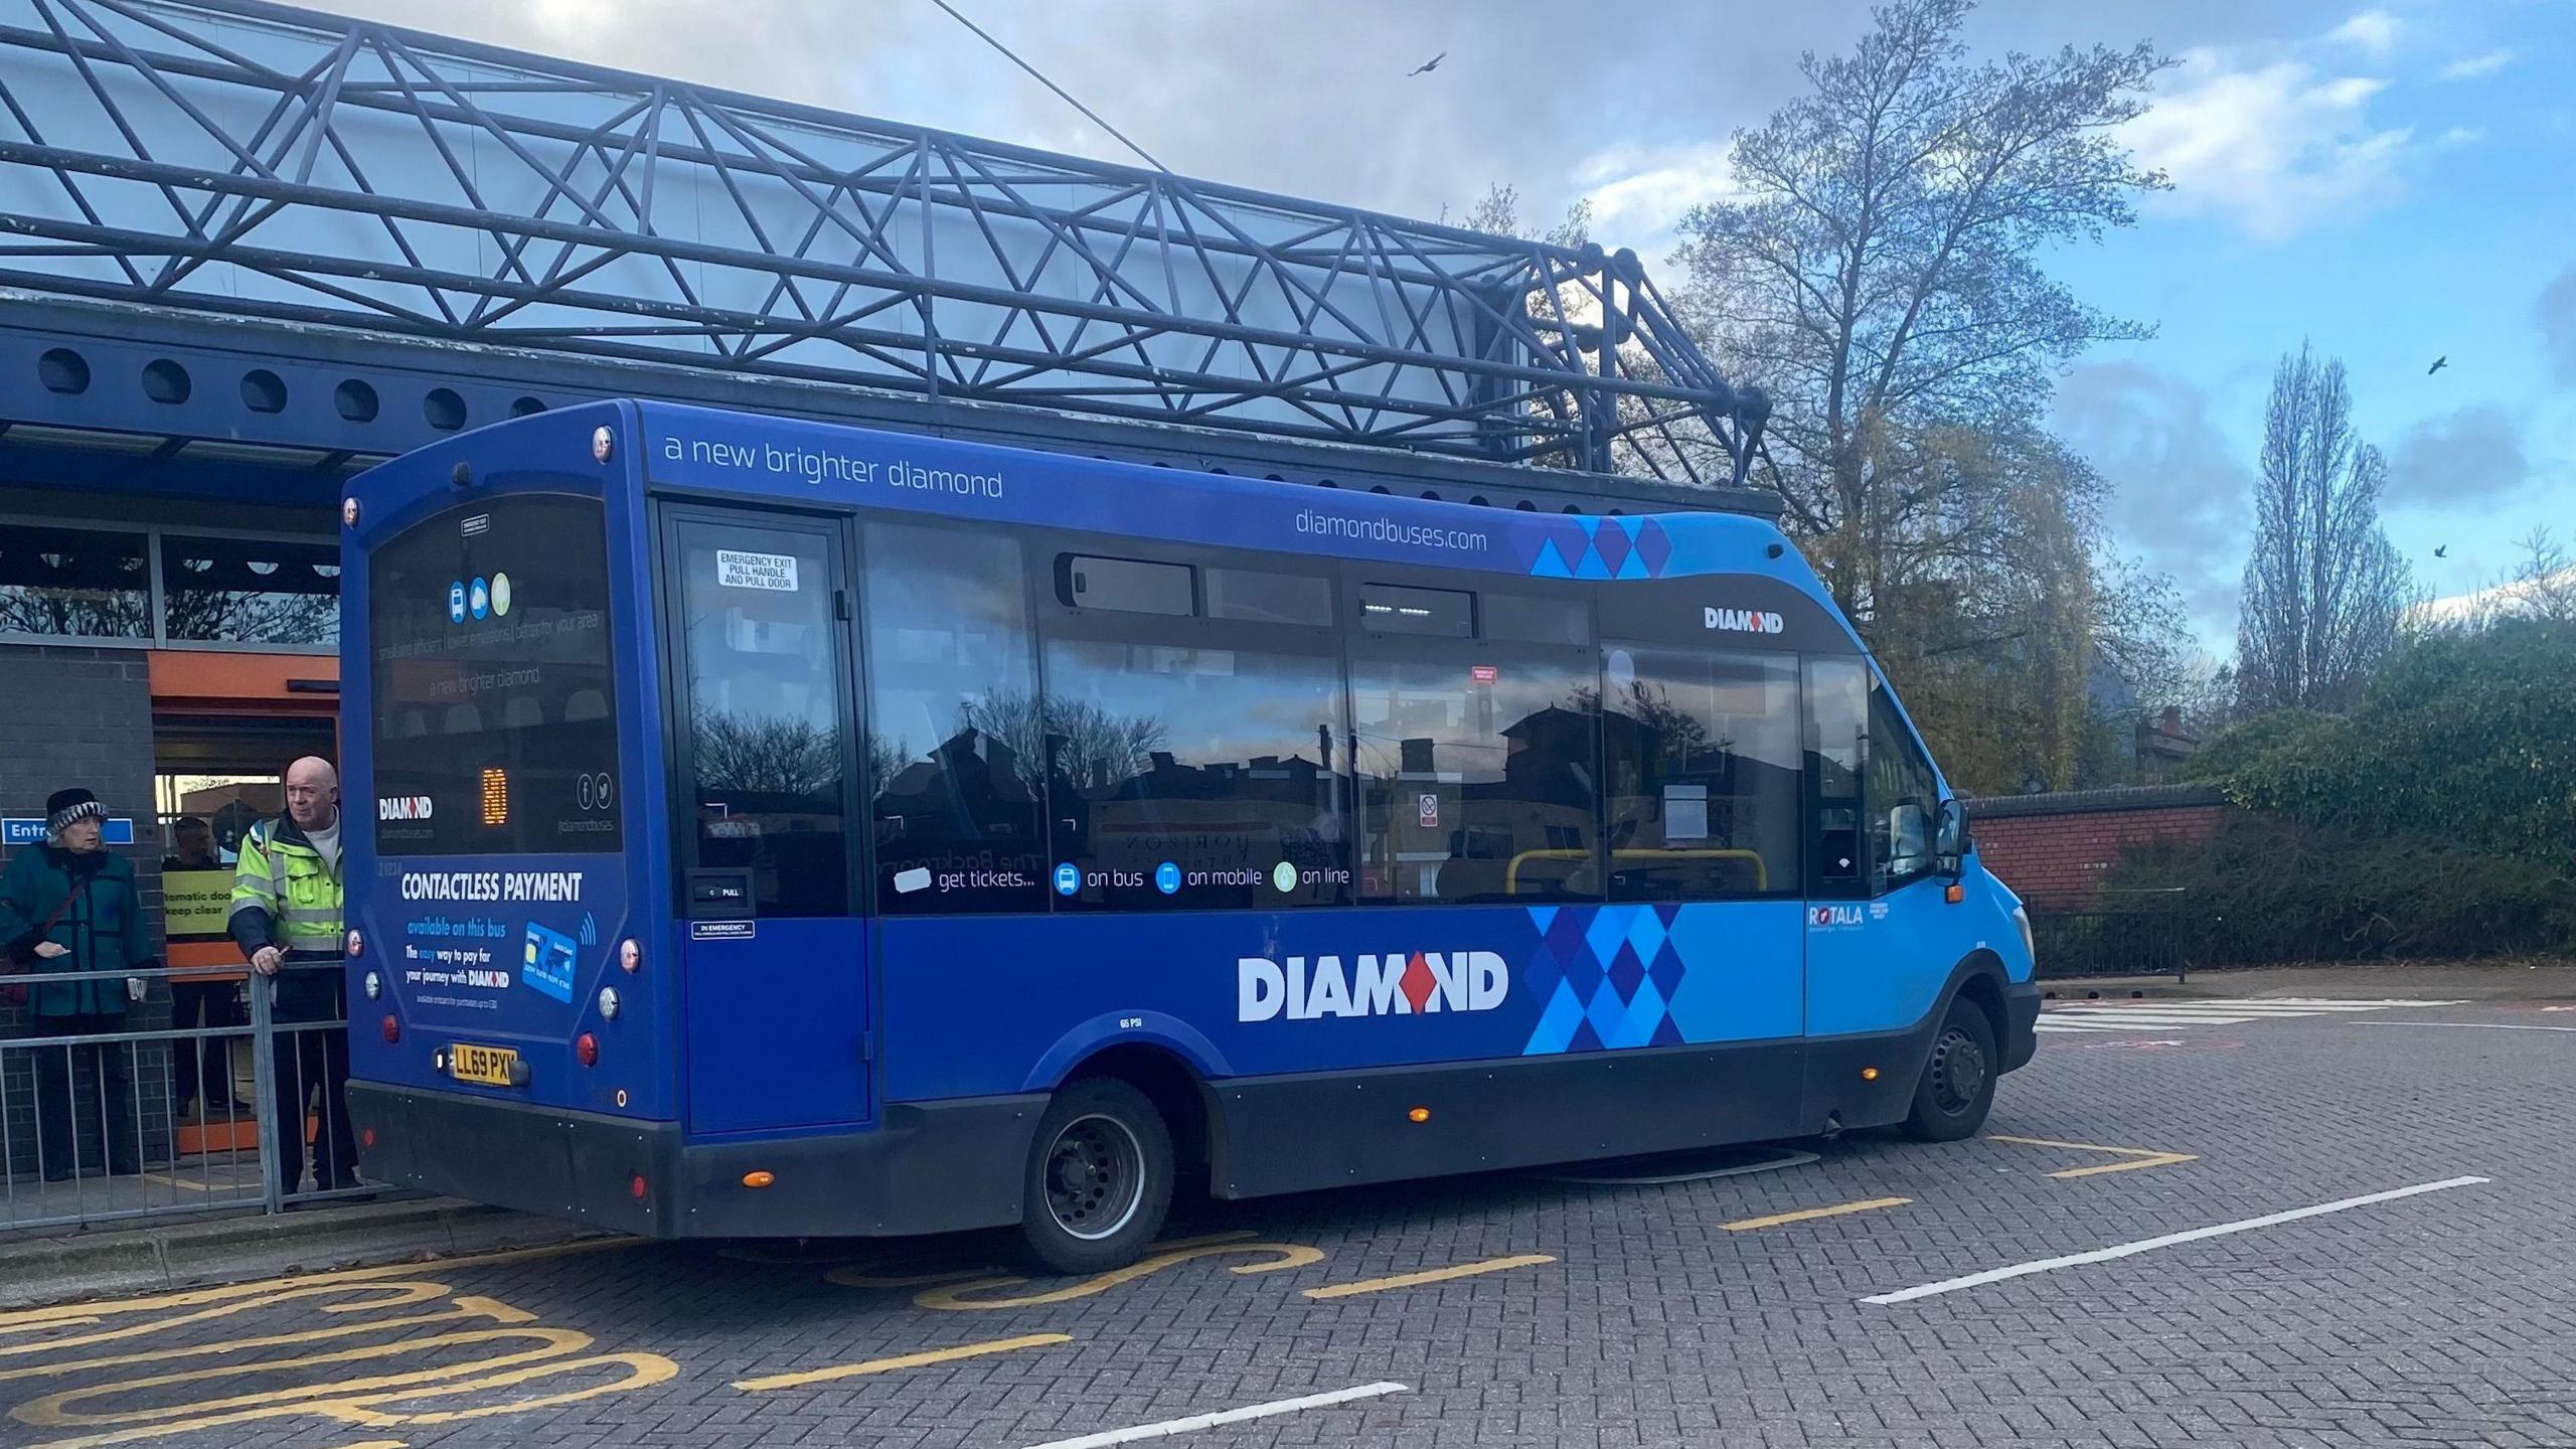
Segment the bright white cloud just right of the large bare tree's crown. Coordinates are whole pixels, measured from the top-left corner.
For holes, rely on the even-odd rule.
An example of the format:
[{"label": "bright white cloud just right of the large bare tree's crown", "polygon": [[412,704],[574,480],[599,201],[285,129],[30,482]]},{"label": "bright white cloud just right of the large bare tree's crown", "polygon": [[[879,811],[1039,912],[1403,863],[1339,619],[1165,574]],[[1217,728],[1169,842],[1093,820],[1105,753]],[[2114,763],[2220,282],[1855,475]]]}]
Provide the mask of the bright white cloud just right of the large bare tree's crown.
[{"label": "bright white cloud just right of the large bare tree's crown", "polygon": [[2277,242],[2396,196],[2414,131],[2370,126],[2385,80],[2318,75],[2295,59],[2246,67],[2210,49],[2184,52],[2177,75],[2123,134],[2138,160],[2174,178],[2159,206],[2223,214]]}]

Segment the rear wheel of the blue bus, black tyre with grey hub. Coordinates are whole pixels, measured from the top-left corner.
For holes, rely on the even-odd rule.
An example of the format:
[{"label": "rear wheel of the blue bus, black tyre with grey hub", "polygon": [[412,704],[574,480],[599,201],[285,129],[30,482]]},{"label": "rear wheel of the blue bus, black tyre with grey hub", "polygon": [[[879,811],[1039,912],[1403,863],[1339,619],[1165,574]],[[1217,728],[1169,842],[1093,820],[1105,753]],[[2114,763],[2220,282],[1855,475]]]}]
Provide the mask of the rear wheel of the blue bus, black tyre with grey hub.
[{"label": "rear wheel of the blue bus, black tyre with grey hub", "polygon": [[1144,1256],[1172,1212],[1172,1132],[1136,1088],[1066,1083],[1028,1147],[1020,1238],[1059,1274],[1105,1274]]}]

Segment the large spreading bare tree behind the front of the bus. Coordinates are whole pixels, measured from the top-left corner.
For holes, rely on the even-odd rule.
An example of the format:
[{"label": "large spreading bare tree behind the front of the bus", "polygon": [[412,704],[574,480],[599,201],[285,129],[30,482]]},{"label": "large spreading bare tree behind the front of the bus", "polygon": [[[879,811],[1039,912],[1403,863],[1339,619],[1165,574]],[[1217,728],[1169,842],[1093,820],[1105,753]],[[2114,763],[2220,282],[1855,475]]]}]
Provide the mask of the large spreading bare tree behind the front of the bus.
[{"label": "large spreading bare tree behind the front of the bus", "polygon": [[1772,394],[1767,474],[1868,621],[1893,498],[1929,425],[2020,425],[2053,364],[2146,327],[2084,307],[2040,253],[2133,219],[2166,186],[2115,126],[2166,64],[2154,46],[1971,64],[1968,0],[1896,0],[1847,57],[1803,57],[1811,95],[1734,142],[1741,199],[1682,222],[1692,315]]}]

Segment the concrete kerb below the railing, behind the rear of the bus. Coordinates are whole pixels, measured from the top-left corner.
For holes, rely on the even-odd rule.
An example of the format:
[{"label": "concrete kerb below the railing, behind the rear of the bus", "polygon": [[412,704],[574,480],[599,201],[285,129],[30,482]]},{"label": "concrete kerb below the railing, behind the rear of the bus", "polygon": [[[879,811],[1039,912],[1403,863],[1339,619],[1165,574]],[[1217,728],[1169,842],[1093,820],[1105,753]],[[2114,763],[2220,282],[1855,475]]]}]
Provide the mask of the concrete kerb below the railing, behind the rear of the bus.
[{"label": "concrete kerb below the railing, behind the rear of the bus", "polygon": [[124,1230],[0,1238],[0,1307],[314,1274],[598,1232],[459,1199],[317,1207]]}]

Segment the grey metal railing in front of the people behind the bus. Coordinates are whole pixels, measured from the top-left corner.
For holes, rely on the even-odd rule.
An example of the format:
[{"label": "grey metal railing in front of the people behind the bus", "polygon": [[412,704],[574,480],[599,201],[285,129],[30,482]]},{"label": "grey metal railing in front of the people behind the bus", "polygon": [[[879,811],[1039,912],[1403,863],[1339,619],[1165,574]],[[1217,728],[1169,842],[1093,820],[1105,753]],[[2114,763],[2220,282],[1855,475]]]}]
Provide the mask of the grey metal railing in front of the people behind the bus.
[{"label": "grey metal railing in front of the people behind the bus", "polygon": [[[322,972],[337,977],[340,964],[299,962],[278,977],[227,982],[245,990],[247,1021],[214,1024],[219,1013],[206,1013],[198,1024],[165,1029],[116,1024],[157,1018],[167,987],[209,985],[206,967],[0,975],[0,993],[26,987],[23,1018],[0,1036],[0,1232],[222,1209],[283,1212],[374,1194],[355,1178],[340,1093],[348,1021],[278,1021],[276,1013],[281,980]],[[113,990],[126,1011],[44,1013],[49,985]],[[108,1029],[93,1029],[103,1024]],[[245,1075],[247,1109],[240,1101]],[[307,1168],[312,1186],[304,1186]]]}]

